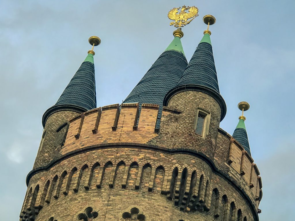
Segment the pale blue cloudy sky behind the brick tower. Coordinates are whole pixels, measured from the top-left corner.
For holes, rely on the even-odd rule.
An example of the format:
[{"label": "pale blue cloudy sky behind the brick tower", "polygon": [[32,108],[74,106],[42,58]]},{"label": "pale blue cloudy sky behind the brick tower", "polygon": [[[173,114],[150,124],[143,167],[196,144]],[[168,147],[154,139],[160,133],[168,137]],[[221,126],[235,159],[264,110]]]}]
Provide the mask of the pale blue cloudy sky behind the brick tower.
[{"label": "pale blue cloudy sky behind the brick tower", "polygon": [[294,1],[0,1],[0,212],[18,220],[42,136],[41,118],[95,48],[98,106],[121,103],[173,39],[168,11],[183,4],[200,16],[183,28],[190,60],[210,27],[219,88],[227,103],[220,127],[232,134],[246,100],[250,148],[263,181],[260,220],[294,220]]}]

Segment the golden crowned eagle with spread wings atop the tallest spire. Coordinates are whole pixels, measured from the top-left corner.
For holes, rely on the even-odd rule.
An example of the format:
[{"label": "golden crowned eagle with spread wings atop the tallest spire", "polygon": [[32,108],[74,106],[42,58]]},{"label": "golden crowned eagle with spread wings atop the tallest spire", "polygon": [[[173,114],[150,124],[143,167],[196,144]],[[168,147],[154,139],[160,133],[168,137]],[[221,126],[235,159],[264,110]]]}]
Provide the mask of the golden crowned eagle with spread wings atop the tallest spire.
[{"label": "golden crowned eagle with spread wings atop the tallest spire", "polygon": [[[181,9],[180,12],[178,11],[179,9]],[[188,13],[186,12],[187,10],[189,10]],[[184,5],[179,8],[173,8],[168,12],[168,18],[174,20],[174,22],[171,22],[170,25],[181,28],[189,24],[195,17],[199,16],[198,12],[199,9],[196,6],[190,7]]]}]

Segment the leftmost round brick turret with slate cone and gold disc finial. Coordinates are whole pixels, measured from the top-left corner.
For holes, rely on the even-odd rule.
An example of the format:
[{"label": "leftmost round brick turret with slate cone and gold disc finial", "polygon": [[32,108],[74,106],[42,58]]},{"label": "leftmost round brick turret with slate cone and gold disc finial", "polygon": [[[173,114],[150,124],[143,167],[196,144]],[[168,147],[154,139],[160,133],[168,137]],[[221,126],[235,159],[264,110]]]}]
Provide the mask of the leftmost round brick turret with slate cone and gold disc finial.
[{"label": "leftmost round brick turret with slate cone and gold disc finial", "polygon": [[[42,125],[44,131],[34,168],[45,166],[53,158],[57,157],[53,156],[53,153],[58,155],[60,148],[63,146],[64,141],[61,133],[67,131],[67,122],[71,118],[96,108],[93,60],[95,52],[93,48],[99,45],[100,42],[99,37],[92,36],[89,38],[92,49],[88,51],[86,59],[82,62],[55,105],[48,108],[43,114]],[[58,133],[59,131],[60,134]]]}]

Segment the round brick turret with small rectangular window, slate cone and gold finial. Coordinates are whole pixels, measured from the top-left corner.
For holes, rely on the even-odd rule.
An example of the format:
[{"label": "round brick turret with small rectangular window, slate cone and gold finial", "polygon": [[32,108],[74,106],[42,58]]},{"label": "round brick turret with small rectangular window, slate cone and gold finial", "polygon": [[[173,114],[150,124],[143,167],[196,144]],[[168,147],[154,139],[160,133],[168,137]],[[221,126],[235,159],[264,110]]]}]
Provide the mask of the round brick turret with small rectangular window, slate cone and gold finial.
[{"label": "round brick turret with small rectangular window, slate cone and gold finial", "polygon": [[[203,18],[208,24],[193,57],[176,87],[164,99],[164,106],[181,110],[178,133],[182,138],[177,148],[191,146],[196,151],[214,157],[217,129],[226,113],[226,105],[219,93],[209,25],[215,23],[212,15]],[[189,119],[189,121],[188,121]]]}]

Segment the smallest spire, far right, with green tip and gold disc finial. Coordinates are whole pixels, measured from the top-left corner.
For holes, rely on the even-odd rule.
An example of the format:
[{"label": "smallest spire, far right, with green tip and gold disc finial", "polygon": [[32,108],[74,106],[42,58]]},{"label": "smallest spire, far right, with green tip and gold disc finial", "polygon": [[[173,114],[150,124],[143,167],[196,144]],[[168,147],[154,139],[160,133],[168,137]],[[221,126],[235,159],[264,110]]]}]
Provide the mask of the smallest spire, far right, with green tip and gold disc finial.
[{"label": "smallest spire, far right, with green tip and gold disc finial", "polygon": [[242,110],[242,116],[239,117],[239,123],[237,127],[235,128],[235,131],[232,134],[232,137],[235,138],[240,144],[242,144],[245,151],[247,151],[248,154],[251,155],[248,135],[247,135],[246,126],[245,126],[246,117],[244,116],[244,111],[248,110],[250,108],[250,105],[249,103],[242,101],[238,104],[238,107],[240,110]]}]

